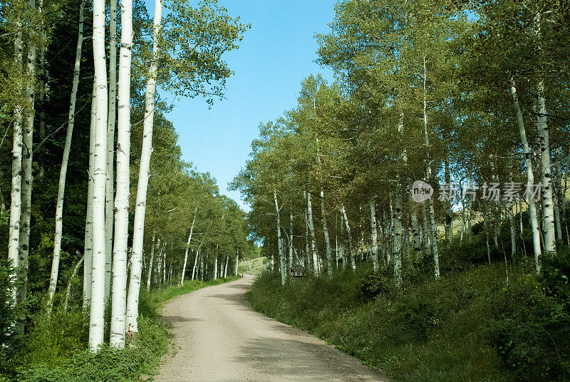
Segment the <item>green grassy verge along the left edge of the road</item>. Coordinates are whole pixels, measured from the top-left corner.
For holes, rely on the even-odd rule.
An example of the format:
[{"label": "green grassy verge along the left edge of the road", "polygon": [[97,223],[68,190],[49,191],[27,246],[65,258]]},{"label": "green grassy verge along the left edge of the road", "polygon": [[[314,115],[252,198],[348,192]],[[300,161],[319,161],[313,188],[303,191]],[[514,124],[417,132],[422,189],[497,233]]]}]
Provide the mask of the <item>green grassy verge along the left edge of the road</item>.
[{"label": "green grassy verge along the left edge of the road", "polygon": [[[104,346],[98,353],[86,349],[85,319],[81,311],[55,312],[52,319],[38,317],[19,359],[21,382],[134,382],[152,381],[170,335],[160,319],[162,304],[175,296],[239,276],[209,282],[187,281],[183,287],[141,291],[139,334],[134,346],[123,350]],[[73,328],[80,328],[74,331]],[[143,377],[151,376],[151,377]],[[146,378],[146,379],[142,379]],[[0,376],[0,382],[11,381]]]}]

